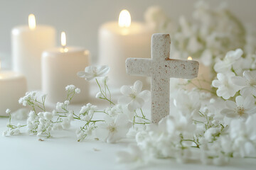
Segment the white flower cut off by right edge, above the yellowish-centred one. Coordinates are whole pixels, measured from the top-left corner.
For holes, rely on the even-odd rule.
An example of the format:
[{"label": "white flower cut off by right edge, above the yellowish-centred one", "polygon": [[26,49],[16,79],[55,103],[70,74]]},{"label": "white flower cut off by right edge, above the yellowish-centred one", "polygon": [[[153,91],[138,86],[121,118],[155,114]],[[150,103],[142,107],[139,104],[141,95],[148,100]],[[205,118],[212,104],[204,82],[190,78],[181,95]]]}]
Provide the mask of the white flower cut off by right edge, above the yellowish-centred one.
[{"label": "white flower cut off by right edge, above the yellowish-centred one", "polygon": [[256,70],[243,72],[243,77],[232,77],[235,85],[241,86],[240,94],[256,96]]}]

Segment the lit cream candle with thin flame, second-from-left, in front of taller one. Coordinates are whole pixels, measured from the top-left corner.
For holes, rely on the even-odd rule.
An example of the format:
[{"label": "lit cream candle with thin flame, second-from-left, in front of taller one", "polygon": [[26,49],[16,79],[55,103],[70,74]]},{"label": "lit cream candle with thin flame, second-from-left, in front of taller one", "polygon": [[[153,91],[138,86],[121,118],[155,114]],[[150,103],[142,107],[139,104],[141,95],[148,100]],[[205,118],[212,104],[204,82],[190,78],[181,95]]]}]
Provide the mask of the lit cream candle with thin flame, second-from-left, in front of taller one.
[{"label": "lit cream candle with thin flame, second-from-left, in front of taller one", "polygon": [[66,98],[65,86],[70,84],[81,89],[75,94],[73,102],[85,102],[89,93],[89,84],[80,79],[77,73],[89,65],[90,52],[80,47],[66,47],[65,33],[61,33],[62,47],[46,50],[42,54],[42,89],[50,103]]}]

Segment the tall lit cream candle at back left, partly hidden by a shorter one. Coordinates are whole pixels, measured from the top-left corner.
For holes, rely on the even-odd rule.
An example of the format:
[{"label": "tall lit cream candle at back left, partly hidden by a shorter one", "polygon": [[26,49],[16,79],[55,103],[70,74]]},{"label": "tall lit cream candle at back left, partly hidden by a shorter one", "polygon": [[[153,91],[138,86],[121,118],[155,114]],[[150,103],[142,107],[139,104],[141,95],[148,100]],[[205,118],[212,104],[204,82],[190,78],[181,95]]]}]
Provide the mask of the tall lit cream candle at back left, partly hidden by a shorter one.
[{"label": "tall lit cream candle at back left, partly hidden by a shorter one", "polygon": [[13,68],[24,74],[28,90],[41,89],[41,55],[43,50],[55,46],[55,28],[36,25],[33,14],[28,26],[17,26],[11,31]]}]

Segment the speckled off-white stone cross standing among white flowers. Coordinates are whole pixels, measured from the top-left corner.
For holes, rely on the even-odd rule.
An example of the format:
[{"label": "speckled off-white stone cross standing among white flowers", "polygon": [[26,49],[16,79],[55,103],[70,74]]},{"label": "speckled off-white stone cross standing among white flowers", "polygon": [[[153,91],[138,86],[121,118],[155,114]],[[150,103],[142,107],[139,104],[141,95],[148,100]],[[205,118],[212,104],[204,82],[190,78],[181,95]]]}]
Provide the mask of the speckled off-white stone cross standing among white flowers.
[{"label": "speckled off-white stone cross standing among white flowers", "polygon": [[152,123],[169,115],[170,78],[193,79],[198,75],[198,62],[169,58],[170,44],[169,34],[154,34],[151,37],[151,59],[128,58],[125,62],[128,74],[151,77]]}]

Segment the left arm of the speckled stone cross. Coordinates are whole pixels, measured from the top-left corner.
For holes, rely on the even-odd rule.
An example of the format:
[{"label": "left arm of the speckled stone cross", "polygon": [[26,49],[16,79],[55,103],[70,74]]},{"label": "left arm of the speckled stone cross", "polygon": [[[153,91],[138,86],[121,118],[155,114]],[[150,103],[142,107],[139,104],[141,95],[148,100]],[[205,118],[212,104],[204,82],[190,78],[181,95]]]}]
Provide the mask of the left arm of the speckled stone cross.
[{"label": "left arm of the speckled stone cross", "polygon": [[125,64],[127,74],[148,77],[151,75],[151,59],[149,58],[128,58]]}]

